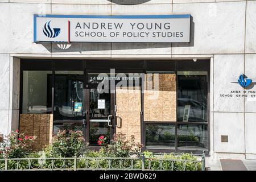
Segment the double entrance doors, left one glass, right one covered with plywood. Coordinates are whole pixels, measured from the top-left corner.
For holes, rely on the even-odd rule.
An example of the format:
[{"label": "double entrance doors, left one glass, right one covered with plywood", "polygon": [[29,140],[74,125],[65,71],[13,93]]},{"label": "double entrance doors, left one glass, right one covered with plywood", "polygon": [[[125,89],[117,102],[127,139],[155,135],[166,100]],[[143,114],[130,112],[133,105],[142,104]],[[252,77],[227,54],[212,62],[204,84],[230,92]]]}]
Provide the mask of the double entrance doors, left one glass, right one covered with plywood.
[{"label": "double entrance doors, left one glass, right one covered with plywood", "polygon": [[109,143],[119,132],[141,142],[141,75],[101,70],[89,72],[87,79],[86,142],[99,146],[103,135]]}]

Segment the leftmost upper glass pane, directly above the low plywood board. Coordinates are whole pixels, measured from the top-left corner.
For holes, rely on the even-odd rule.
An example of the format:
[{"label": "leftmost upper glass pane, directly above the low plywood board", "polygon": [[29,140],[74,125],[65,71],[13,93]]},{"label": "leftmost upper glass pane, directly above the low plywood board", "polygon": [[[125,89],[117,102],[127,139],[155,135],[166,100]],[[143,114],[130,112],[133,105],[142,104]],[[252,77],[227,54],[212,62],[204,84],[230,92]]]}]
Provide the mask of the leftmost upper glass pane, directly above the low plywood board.
[{"label": "leftmost upper glass pane, directly above the low plywood board", "polygon": [[23,71],[23,114],[51,113],[51,76],[51,71]]}]

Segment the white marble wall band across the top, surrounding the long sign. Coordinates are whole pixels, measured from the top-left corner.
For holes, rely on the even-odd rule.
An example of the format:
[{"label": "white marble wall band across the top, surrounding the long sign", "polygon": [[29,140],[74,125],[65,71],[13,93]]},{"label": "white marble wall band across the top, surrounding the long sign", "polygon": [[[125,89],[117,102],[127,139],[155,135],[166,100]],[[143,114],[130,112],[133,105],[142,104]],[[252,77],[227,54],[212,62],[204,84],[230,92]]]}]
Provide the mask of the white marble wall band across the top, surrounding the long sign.
[{"label": "white marble wall band across the top, surrounding the long sign", "polygon": [[[15,0],[0,5],[0,44],[3,53],[40,53],[46,56],[56,55],[172,55],[243,53],[245,44],[245,1],[170,1],[151,0],[138,5],[120,5],[107,0]],[[26,2],[26,3],[21,3]],[[40,2],[40,3],[39,3]],[[72,4],[71,4],[72,2]],[[120,1],[127,2],[127,1]],[[131,2],[131,1],[130,1]],[[135,1],[135,2],[140,2]],[[192,3],[191,3],[192,2]],[[204,3],[199,3],[204,2]],[[246,21],[249,29],[254,30],[254,3],[248,2]],[[251,13],[250,13],[251,12]],[[154,15],[154,14],[191,14],[191,43],[92,43],[73,45],[63,50],[55,44],[33,43],[33,14],[89,14],[89,15]],[[7,16],[9,15],[9,16]],[[6,18],[5,18],[6,17]],[[249,20],[250,19],[250,20]],[[251,32],[249,30],[249,32]],[[248,33],[246,44],[250,42]],[[253,37],[253,36],[252,36]],[[223,46],[225,45],[225,46]],[[250,49],[252,49],[250,47]],[[75,56],[74,56],[75,57]],[[102,57],[102,56],[100,56]]]}]

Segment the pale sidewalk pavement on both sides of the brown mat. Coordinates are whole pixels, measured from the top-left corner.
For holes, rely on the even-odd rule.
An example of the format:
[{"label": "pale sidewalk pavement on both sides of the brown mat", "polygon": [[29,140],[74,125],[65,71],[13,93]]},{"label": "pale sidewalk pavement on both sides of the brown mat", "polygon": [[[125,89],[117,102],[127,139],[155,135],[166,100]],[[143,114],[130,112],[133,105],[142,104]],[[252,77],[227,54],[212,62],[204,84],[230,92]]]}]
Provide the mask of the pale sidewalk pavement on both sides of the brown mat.
[{"label": "pale sidewalk pavement on both sides of the brown mat", "polygon": [[[247,171],[256,171],[256,160],[242,159]],[[222,171],[220,159],[205,158],[205,167],[209,167],[210,171]]]}]

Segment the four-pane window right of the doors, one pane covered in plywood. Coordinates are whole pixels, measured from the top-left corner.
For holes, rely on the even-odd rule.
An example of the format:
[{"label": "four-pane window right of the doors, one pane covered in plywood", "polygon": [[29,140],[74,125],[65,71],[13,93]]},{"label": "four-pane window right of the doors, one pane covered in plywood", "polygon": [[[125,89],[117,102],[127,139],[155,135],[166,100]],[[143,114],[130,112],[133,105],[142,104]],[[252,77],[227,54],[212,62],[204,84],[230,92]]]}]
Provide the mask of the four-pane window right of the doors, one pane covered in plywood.
[{"label": "four-pane window right of the doors, one pane covered in plywood", "polygon": [[[155,78],[159,81],[158,92],[154,91],[157,93],[156,99],[149,99],[148,90],[144,93],[146,148],[208,150],[208,72],[159,72],[150,79],[152,82],[150,92],[154,90]],[[148,84],[148,77],[146,84]],[[174,91],[174,97],[168,94],[172,93],[171,91]],[[160,109],[161,106],[162,109]],[[172,114],[175,119],[170,119]],[[179,123],[174,123],[176,118],[178,122],[201,122],[202,124],[179,125]],[[161,124],[157,124],[157,122]],[[163,124],[163,122],[168,124]],[[168,126],[172,126],[171,129],[168,129]],[[175,127],[177,127],[177,131]],[[178,141],[176,147],[175,140]]]}]

